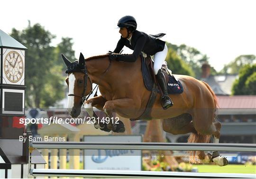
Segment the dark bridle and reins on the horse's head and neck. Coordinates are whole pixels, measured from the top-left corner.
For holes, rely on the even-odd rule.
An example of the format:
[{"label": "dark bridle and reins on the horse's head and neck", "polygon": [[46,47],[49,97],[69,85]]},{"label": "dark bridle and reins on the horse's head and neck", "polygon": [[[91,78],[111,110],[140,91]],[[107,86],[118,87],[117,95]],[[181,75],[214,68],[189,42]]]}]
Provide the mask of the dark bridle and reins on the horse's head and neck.
[{"label": "dark bridle and reins on the horse's head and neck", "polygon": [[[109,64],[108,68],[105,70],[105,72],[103,72],[103,75],[104,75],[106,72],[108,72],[108,70],[109,70],[109,68],[110,68],[110,65],[111,65],[111,60],[110,60],[110,64]],[[95,89],[98,85],[96,85],[96,86],[94,87],[94,89],[92,89],[92,81],[91,81],[91,77],[88,75],[86,65],[85,65],[85,68],[84,68],[84,69],[81,69],[81,72],[84,73],[84,76],[83,76],[84,85],[83,85],[82,95],[68,94],[68,96],[75,96],[75,97],[81,98],[80,104],[83,105],[83,102],[86,101],[86,100],[91,96],[91,94],[93,93],[94,89]],[[91,89],[92,89],[92,90],[90,91],[90,93],[89,93],[88,96],[86,97],[86,96],[84,96],[84,95],[85,95],[85,92],[86,92],[86,89],[87,89],[87,79],[89,79],[89,81],[90,81],[90,83],[91,83]],[[101,79],[102,79],[102,78],[101,78]],[[100,81],[101,81],[101,79],[100,79]],[[99,82],[100,82],[100,81],[99,81]],[[97,96],[97,90],[96,90],[95,95]],[[94,95],[94,96],[95,96],[95,95]]]}]

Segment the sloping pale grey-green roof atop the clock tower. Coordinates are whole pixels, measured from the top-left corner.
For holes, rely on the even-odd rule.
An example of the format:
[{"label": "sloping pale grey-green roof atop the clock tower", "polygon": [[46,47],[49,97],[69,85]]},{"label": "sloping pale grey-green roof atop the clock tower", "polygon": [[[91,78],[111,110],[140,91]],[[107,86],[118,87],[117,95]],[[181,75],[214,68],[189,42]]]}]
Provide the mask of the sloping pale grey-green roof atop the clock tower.
[{"label": "sloping pale grey-green roof atop the clock tower", "polygon": [[17,40],[6,34],[0,29],[0,47],[11,47],[19,49],[27,49],[26,46],[20,44]]}]

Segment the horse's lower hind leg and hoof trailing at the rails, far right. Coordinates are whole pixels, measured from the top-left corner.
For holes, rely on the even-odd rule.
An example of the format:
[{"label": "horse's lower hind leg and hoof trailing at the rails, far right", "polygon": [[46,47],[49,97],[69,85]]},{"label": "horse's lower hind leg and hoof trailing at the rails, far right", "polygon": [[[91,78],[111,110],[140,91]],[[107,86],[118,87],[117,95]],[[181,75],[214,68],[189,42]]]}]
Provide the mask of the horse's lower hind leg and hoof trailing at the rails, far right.
[{"label": "horse's lower hind leg and hoof trailing at the rails, far right", "polygon": [[[212,134],[213,143],[219,143],[221,124],[220,122],[215,122],[213,124],[216,127],[216,131]],[[211,160],[219,166],[225,166],[229,164],[229,161],[225,157],[219,155],[219,151],[212,152]]]}]

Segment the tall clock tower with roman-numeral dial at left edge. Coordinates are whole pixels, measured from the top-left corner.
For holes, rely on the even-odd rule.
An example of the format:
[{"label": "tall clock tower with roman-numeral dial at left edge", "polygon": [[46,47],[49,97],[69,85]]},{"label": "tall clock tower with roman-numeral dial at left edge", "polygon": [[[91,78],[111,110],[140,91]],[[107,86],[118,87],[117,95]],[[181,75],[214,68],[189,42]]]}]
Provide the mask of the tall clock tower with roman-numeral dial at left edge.
[{"label": "tall clock tower with roman-numeral dial at left edge", "polygon": [[25,50],[0,30],[0,178],[27,178],[28,149],[19,136],[25,116]]}]

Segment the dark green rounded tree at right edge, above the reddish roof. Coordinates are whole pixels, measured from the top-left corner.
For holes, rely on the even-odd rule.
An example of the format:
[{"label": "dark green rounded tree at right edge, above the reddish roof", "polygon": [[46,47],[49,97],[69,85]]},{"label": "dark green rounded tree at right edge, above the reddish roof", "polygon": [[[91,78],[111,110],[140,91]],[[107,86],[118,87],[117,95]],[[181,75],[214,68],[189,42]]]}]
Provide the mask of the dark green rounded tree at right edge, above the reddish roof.
[{"label": "dark green rounded tree at right edge, above the reddish roof", "polygon": [[244,65],[232,87],[233,95],[256,95],[256,64]]}]

